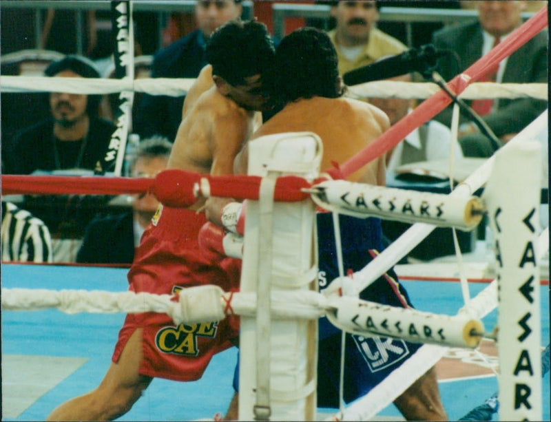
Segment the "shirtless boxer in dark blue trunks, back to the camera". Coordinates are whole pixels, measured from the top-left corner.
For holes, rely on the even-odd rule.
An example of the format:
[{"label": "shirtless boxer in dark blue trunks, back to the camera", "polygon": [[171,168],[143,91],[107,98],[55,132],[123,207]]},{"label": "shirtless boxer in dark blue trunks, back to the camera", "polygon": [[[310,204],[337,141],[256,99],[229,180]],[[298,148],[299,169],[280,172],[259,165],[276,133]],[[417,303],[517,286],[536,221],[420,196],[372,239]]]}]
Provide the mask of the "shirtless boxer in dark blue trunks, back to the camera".
[{"label": "shirtless boxer in dark blue trunks, back to the camera", "polygon": [[[302,28],[282,39],[275,53],[271,101],[280,109],[258,129],[251,139],[282,132],[312,131],[322,139],[322,170],[342,163],[361,151],[388,129],[386,115],[376,107],[342,97],[337,71],[337,55],[329,37],[313,28]],[[235,172],[247,172],[247,145],[238,154]],[[385,184],[384,157],[371,161],[348,180]],[[320,291],[338,274],[333,222],[330,213],[318,213]],[[359,219],[340,215],[345,271],[358,271],[382,249],[378,218]],[[366,288],[362,299],[393,306],[410,306],[406,291],[393,271]],[[326,318],[320,319],[318,351],[318,406],[337,408],[340,330]],[[344,400],[349,403],[366,394],[389,372],[399,367],[420,345],[401,340],[380,341],[346,335]],[[377,348],[385,348],[386,368],[373,359]],[[381,355],[379,355],[381,356]],[[234,386],[236,382],[234,380]],[[395,400],[408,420],[446,420],[441,405],[435,371],[429,370]]]}]

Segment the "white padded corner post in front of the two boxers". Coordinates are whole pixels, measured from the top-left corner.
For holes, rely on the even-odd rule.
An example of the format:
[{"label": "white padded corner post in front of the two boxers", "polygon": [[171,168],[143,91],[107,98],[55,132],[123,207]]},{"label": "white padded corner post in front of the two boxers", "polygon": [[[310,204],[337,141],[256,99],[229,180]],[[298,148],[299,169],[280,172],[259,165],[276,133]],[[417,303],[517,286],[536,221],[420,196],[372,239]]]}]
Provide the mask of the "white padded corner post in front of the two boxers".
[{"label": "white padded corner post in front of the two boxers", "polygon": [[[284,175],[317,177],[321,151],[320,138],[302,132],[263,136],[249,143],[249,175],[263,179],[260,200],[247,204],[241,292],[260,295],[259,286],[266,278],[269,296],[278,291],[317,291],[313,201],[272,199],[270,206],[270,201],[262,198],[262,185]],[[265,262],[267,257],[269,262]],[[264,268],[269,268],[268,276]],[[262,314],[270,312],[260,306],[266,304],[265,299],[257,297],[255,316],[240,317],[239,419],[315,420],[318,320],[273,319],[268,315],[267,327],[263,328]],[[266,358],[262,348],[268,348],[268,359],[260,366]],[[267,386],[260,385],[262,376],[267,377]],[[268,412],[260,414],[255,410],[265,408],[261,396],[269,406]]]}]

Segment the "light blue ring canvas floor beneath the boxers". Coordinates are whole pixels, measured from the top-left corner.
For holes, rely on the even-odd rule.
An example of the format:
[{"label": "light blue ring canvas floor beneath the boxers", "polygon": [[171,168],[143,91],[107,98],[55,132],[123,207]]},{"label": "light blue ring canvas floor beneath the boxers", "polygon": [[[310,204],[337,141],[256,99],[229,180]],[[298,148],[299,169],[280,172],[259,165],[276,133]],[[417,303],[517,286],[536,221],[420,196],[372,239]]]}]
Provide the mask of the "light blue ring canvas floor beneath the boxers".
[{"label": "light blue ring canvas floor beneath the boxers", "polygon": [[[127,288],[126,272],[124,268],[3,264],[2,285],[123,292]],[[457,282],[406,280],[404,286],[415,298],[419,310],[453,313],[461,306]],[[476,295],[486,286],[484,282],[472,283],[471,292]],[[541,308],[549,309],[548,295],[541,295]],[[3,420],[44,420],[59,403],[95,388],[107,371],[123,320],[123,314],[4,312]],[[483,319],[488,327],[494,326],[496,320],[496,311]],[[541,333],[542,343],[549,343],[549,313],[543,311]],[[488,363],[495,365],[495,348],[483,350],[489,356]],[[154,379],[132,410],[119,420],[183,421],[225,412],[233,394],[231,380],[236,355],[235,348],[216,355],[198,381]],[[18,360],[21,357],[25,359],[23,362]],[[495,374],[487,368],[488,363],[475,352],[453,348],[437,364],[441,397],[450,420],[459,419],[497,391]],[[6,373],[9,370],[21,372]],[[549,386],[548,373],[543,378],[543,397],[551,394]],[[327,409],[318,411],[326,416],[331,414]],[[378,416],[391,420],[400,414],[389,405]],[[543,420],[549,419],[549,402],[544,401]]]}]

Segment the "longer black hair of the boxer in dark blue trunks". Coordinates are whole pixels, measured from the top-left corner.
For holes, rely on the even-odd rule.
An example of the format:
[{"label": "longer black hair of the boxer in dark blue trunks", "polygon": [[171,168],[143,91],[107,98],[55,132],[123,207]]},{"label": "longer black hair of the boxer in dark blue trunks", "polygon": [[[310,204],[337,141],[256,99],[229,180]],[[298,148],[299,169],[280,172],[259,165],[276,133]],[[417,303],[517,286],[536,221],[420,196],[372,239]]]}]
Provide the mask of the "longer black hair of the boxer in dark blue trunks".
[{"label": "longer black hair of the boxer in dark blue trunks", "polygon": [[276,109],[300,98],[342,96],[337,52],[322,30],[304,27],[284,36],[275,50],[270,96]]}]

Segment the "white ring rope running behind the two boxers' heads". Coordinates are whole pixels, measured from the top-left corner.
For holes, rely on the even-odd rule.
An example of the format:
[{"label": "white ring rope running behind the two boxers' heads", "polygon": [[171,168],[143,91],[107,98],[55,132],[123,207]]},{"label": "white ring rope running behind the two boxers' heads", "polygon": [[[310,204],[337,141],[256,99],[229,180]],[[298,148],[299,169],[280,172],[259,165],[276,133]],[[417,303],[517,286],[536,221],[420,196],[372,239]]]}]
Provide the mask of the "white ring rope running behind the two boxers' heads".
[{"label": "white ring rope running behind the two boxers' heads", "polygon": [[[68,78],[47,76],[1,76],[1,92],[70,92],[72,94],[112,94],[127,90],[152,95],[182,96],[194,78]],[[380,98],[428,98],[439,91],[435,83],[376,81],[349,88],[352,94]],[[547,83],[490,83],[469,85],[459,95],[463,99],[478,98],[548,99]]]}]

